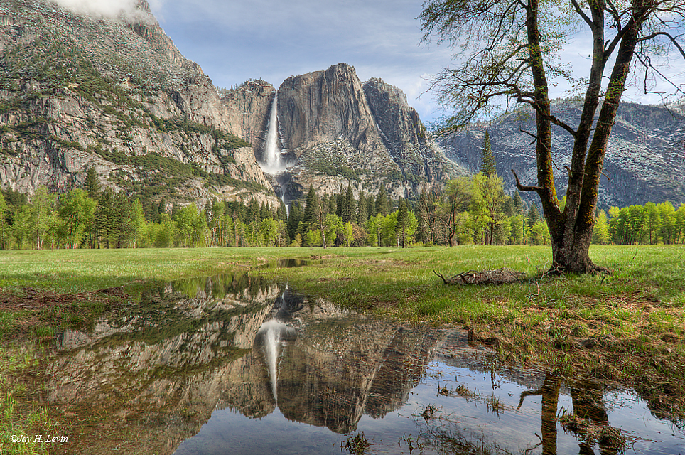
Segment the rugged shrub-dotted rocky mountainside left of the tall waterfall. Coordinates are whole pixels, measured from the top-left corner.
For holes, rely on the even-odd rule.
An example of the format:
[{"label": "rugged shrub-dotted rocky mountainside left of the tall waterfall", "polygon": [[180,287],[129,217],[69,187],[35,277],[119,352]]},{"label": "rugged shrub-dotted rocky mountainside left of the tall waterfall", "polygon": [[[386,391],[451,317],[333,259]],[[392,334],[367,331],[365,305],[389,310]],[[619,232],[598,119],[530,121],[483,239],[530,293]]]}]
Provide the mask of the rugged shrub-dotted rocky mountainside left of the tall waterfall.
[{"label": "rugged shrub-dotted rocky mountainside left of the tall waterfall", "polygon": [[246,101],[244,85],[221,100],[146,1],[108,17],[16,0],[0,5],[0,23],[4,188],[67,191],[94,166],[117,191],[179,203],[217,196],[278,203],[240,139],[260,136],[260,109],[273,87],[262,84]]}]

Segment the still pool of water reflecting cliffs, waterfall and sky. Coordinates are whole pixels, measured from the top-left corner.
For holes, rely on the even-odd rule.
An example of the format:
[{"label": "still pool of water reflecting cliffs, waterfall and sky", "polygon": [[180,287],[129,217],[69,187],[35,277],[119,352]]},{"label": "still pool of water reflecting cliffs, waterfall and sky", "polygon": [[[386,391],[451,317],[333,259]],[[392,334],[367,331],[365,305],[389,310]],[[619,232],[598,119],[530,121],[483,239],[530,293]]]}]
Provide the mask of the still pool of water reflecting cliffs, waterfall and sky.
[{"label": "still pool of water reflecting cliffs, waterfall and sky", "polygon": [[685,429],[630,390],[499,365],[464,331],[248,275],[125,291],[117,319],[58,337],[64,453],[685,455]]}]

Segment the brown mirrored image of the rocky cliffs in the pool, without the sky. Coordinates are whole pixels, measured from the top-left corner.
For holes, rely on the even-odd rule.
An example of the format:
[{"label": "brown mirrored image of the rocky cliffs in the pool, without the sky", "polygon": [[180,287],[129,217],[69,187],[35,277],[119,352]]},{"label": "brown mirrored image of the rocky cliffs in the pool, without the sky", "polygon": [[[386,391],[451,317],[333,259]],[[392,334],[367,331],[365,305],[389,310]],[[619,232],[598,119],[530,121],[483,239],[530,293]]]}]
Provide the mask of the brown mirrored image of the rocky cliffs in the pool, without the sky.
[{"label": "brown mirrored image of the rocky cliffs in the pool, without the sky", "polygon": [[[288,419],[350,432],[362,414],[404,403],[445,336],[351,316],[246,276],[128,291],[117,320],[58,338],[49,402],[102,420],[92,434],[70,430],[82,432],[75,444],[97,446],[104,426],[110,436],[139,435],[143,452],[170,453],[213,410],[264,417],[276,400]],[[269,340],[277,340],[275,380]]]}]

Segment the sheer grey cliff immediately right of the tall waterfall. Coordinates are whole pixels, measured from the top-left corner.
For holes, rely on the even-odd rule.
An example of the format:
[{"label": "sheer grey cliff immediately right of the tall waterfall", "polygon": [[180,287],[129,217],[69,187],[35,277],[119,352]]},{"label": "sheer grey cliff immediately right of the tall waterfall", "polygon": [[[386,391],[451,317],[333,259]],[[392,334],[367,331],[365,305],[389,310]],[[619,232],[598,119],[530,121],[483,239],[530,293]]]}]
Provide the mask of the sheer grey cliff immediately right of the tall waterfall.
[{"label": "sheer grey cliff immediately right of the tall waterfall", "polygon": [[292,196],[310,184],[321,193],[352,184],[391,196],[422,189],[464,173],[446,159],[406,97],[382,80],[365,84],[346,63],[290,77],[279,87],[281,141],[295,166]]}]

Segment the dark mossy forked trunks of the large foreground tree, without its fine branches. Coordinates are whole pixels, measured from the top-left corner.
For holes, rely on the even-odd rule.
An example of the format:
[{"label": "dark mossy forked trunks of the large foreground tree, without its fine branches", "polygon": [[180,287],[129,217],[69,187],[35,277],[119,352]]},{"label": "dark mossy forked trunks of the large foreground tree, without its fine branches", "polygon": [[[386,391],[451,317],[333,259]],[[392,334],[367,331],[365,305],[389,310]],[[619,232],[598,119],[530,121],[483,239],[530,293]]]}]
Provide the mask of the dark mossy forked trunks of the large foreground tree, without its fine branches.
[{"label": "dark mossy forked trunks of the large foreground tree, without its fine branches", "polygon": [[[588,149],[590,132],[593,129],[595,109],[598,106],[600,84],[598,80],[603,73],[605,54],[603,33],[600,33],[603,25],[603,16],[593,16],[595,22],[595,60],[593,63],[593,75],[591,77],[588,92],[586,93],[585,109],[581,117],[578,129],[573,132],[574,146],[571,168],[566,168],[569,173],[568,189],[566,191],[566,207],[563,213],[559,208],[554,187],[554,173],[551,159],[551,115],[549,111],[549,99],[546,92],[536,90],[536,157],[538,167],[537,186],[522,186],[516,176],[517,188],[520,191],[535,191],[540,196],[552,244],[552,268],[561,273],[595,273],[607,272],[604,267],[595,265],[590,260],[590,242],[595,225],[595,211],[597,209],[598,188],[604,156],[614,124],[616,112],[620,104],[621,95],[625,90],[625,81],[630,73],[630,62],[637,45],[637,36],[640,33],[642,22],[649,9],[653,8],[654,0],[633,0],[632,7],[635,11],[634,20],[630,21],[623,31],[620,47],[616,55],[615,64],[609,78],[604,103],[600,109],[598,120],[595,124],[592,142]],[[532,3],[532,7],[536,3]],[[593,11],[595,14],[596,11]],[[529,19],[532,22],[532,19]],[[529,23],[529,41],[537,44],[538,36],[534,33],[534,24]],[[532,58],[535,48],[531,50]],[[536,87],[546,87],[544,70],[532,65]],[[586,157],[587,150],[587,157]]]}]

